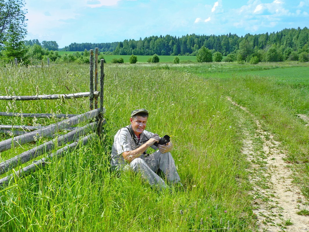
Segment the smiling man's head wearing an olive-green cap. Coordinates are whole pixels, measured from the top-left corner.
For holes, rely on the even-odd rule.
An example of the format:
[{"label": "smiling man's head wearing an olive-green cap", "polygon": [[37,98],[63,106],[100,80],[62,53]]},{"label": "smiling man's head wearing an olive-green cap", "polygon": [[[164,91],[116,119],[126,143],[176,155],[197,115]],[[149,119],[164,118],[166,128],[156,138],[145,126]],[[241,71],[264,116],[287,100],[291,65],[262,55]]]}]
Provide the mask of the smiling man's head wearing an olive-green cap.
[{"label": "smiling man's head wearing an olive-green cap", "polygon": [[149,113],[146,109],[132,111],[130,122],[132,129],[137,137],[139,137],[139,135],[146,129],[148,115]]}]

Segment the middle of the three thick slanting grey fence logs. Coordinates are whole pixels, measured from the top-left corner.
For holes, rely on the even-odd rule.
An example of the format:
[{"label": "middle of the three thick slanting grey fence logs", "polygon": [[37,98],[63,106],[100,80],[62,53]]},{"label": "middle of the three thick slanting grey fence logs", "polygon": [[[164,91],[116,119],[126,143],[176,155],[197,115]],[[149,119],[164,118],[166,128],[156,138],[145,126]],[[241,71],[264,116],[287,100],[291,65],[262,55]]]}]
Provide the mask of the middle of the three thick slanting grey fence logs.
[{"label": "middle of the three thick slanting grey fence logs", "polygon": [[61,146],[70,141],[77,140],[79,137],[86,135],[87,133],[95,131],[97,128],[97,123],[93,122],[86,126],[83,126],[77,130],[71,131],[67,134],[59,136],[51,141],[45,142],[40,146],[34,147],[28,151],[25,151],[15,157],[8,159],[2,163],[0,163],[0,175],[11,170],[12,168],[17,167],[20,164],[28,162],[50,150],[53,150],[56,145]]}]

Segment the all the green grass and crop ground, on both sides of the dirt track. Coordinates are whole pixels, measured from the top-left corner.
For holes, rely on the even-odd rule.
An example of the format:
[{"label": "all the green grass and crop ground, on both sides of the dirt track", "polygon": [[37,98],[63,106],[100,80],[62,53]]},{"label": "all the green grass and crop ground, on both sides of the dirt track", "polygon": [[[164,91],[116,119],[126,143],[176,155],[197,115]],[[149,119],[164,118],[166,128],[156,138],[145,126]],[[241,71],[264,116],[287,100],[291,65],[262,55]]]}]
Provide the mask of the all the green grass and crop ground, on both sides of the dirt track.
[{"label": "all the green grass and crop ground, on both sides of the dirt track", "polygon": [[[0,232],[256,231],[256,205],[250,193],[254,186],[249,178],[253,161],[241,152],[245,132],[256,130],[255,120],[287,151],[284,159],[308,200],[309,126],[297,116],[309,116],[307,63],[174,65],[165,63],[173,56],[159,56],[164,64],[130,65],[109,63],[116,57],[128,62],[129,56],[104,57],[104,138],[0,187]],[[138,62],[148,57],[138,56]],[[180,56],[180,61],[191,58],[195,60]],[[88,75],[88,65],[0,67],[0,95],[87,92]],[[252,115],[236,109],[227,97]],[[129,124],[130,112],[136,108],[149,110],[148,130],[171,136],[183,189],[158,192],[138,175],[110,170],[113,136]],[[78,114],[88,110],[87,98],[0,101],[2,112]],[[57,121],[0,116],[0,123],[7,125]],[[2,140],[10,137],[1,136]],[[0,162],[47,140],[38,138],[2,152]]]}]

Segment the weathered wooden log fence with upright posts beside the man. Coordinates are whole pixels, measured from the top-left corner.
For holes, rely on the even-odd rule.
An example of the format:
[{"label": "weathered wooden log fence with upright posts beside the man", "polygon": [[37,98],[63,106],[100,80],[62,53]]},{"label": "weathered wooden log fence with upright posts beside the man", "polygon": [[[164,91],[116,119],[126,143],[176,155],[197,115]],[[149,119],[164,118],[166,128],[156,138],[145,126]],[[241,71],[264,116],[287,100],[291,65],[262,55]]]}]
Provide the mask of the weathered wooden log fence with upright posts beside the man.
[{"label": "weathered wooden log fence with upright posts beside the man", "polygon": [[[100,80],[98,81],[98,48],[95,48],[95,69],[93,69],[93,50],[90,50],[90,91],[73,94],[52,94],[52,95],[36,95],[36,96],[0,96],[0,100],[52,100],[52,99],[74,99],[89,97],[90,111],[79,114],[37,114],[37,113],[14,113],[14,112],[0,112],[0,116],[10,117],[36,117],[36,118],[66,118],[58,123],[49,126],[23,126],[23,125],[0,125],[0,133],[10,134],[13,137],[0,142],[0,152],[9,150],[15,146],[21,146],[25,143],[35,141],[37,137],[50,137],[52,140],[36,146],[28,151],[25,151],[13,158],[0,163],[0,175],[13,170],[11,175],[0,179],[0,185],[10,183],[15,178],[25,177],[32,172],[44,167],[51,158],[59,158],[67,151],[72,151],[79,146],[87,144],[87,142],[94,137],[101,137],[104,133],[103,125],[105,120],[103,118],[105,109],[104,103],[104,60],[100,61]],[[93,76],[94,72],[94,76]],[[98,84],[100,91],[98,91]],[[99,108],[98,108],[99,104]],[[83,127],[73,127],[83,121],[96,119],[95,122],[88,123]],[[65,130],[69,131],[66,134],[57,136],[56,133]],[[87,135],[88,134],[88,135]],[[79,140],[79,141],[78,141]],[[62,147],[54,153],[57,146],[63,146],[66,143],[73,143]],[[19,168],[15,171],[14,168],[20,167],[22,164],[39,157],[43,154],[48,154],[45,158],[34,161],[32,164]]]}]

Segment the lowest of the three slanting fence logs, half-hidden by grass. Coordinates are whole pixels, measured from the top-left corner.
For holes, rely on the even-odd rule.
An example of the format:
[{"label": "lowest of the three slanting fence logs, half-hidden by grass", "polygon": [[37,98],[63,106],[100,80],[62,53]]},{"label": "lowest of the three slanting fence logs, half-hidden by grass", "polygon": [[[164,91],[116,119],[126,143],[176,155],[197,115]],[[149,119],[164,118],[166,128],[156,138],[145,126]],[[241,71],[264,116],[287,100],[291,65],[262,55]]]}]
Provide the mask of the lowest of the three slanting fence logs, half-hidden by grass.
[{"label": "lowest of the three slanting fence logs, half-hidden by grass", "polygon": [[63,156],[66,152],[71,152],[74,149],[78,149],[80,146],[86,145],[87,142],[94,137],[95,134],[90,134],[86,137],[83,137],[81,139],[81,142],[71,143],[70,145],[67,145],[57,150],[57,152],[48,155],[46,158],[42,158],[40,160],[33,162],[32,164],[24,167],[23,169],[16,171],[14,174],[11,174],[9,176],[0,179],[0,185],[8,184],[13,178],[22,178],[30,175],[31,173],[43,168],[46,164],[48,164],[48,162],[46,162],[47,160],[50,160],[51,158],[59,158]]}]

